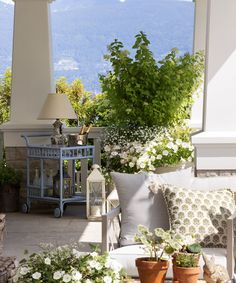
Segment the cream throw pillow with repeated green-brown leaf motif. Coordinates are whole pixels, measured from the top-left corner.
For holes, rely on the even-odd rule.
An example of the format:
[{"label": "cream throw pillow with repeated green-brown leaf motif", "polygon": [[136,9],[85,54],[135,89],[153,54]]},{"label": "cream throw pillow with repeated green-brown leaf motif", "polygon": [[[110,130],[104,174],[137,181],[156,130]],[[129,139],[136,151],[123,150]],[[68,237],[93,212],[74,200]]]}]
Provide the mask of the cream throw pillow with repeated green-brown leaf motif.
[{"label": "cream throw pillow with repeated green-brown leaf motif", "polygon": [[227,218],[234,213],[230,190],[200,191],[162,185],[171,229],[195,235],[203,247],[226,247]]}]

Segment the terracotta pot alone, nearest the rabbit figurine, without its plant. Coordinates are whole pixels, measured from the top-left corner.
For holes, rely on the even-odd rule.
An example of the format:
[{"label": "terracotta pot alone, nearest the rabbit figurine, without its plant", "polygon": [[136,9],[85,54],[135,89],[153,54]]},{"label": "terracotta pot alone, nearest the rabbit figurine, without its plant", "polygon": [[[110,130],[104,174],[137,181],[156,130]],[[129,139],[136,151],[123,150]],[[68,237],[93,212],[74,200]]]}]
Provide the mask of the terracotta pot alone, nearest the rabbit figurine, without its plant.
[{"label": "terracotta pot alone, nearest the rabbit figurine, without its plant", "polygon": [[173,265],[173,281],[178,283],[197,283],[200,267],[178,267]]}]

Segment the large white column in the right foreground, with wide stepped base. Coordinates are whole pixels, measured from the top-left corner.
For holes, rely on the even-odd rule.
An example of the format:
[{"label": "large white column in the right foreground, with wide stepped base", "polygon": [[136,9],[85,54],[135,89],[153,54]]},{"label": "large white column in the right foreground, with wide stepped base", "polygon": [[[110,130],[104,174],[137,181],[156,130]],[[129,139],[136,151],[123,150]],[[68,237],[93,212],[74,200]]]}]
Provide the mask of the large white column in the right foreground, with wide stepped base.
[{"label": "large white column in the right foreground, with wide stepped base", "polygon": [[236,1],[208,0],[203,132],[198,170],[236,169]]}]

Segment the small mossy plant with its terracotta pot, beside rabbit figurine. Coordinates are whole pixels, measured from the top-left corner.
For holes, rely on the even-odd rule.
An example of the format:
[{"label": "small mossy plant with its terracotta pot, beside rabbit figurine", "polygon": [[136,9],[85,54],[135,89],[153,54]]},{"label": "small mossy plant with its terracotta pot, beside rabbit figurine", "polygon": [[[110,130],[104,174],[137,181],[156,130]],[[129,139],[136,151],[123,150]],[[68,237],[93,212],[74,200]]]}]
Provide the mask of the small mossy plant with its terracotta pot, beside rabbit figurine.
[{"label": "small mossy plant with its terracotta pot, beside rabbit figurine", "polygon": [[187,236],[182,248],[173,255],[173,283],[197,283],[201,245]]}]

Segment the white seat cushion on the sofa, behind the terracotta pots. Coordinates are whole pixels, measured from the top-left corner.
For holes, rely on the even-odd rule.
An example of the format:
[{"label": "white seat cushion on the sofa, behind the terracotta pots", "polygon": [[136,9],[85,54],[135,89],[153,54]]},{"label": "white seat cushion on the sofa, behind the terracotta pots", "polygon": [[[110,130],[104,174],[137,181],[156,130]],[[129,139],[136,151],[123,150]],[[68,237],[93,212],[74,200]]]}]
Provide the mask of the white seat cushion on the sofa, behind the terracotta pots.
[{"label": "white seat cushion on the sofa, behind the terracotta pots", "polygon": [[[217,248],[204,248],[203,252],[211,257],[214,256],[215,263],[226,267],[226,249]],[[145,257],[144,250],[141,245],[131,245],[122,247],[113,251],[110,251],[111,258],[117,260],[128,273],[129,276],[138,277],[138,270],[135,267],[135,259],[137,257]],[[200,259],[201,274],[200,278],[203,278],[202,267],[204,265],[203,259]],[[167,278],[172,278],[172,267],[168,268]]]}]

